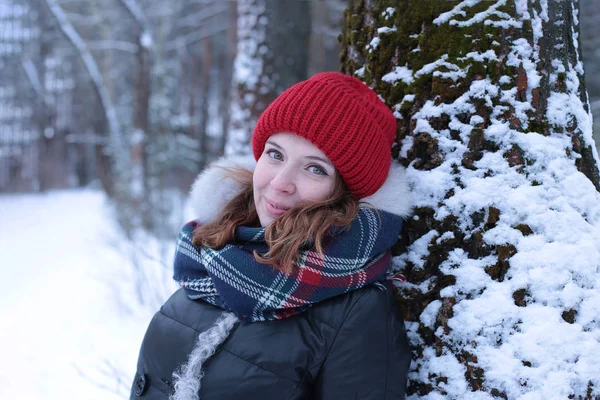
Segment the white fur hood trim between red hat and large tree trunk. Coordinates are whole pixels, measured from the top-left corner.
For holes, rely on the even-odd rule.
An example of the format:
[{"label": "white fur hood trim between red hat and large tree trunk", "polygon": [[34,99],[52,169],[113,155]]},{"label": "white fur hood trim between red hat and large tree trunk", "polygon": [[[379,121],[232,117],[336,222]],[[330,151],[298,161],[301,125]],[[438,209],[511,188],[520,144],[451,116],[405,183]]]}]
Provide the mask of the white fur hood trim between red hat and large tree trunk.
[{"label": "white fur hood trim between red hat and large tree trunk", "polygon": [[406,180],[404,167],[392,160],[388,176],[377,192],[361,202],[391,214],[406,218],[412,210],[412,197]]}]

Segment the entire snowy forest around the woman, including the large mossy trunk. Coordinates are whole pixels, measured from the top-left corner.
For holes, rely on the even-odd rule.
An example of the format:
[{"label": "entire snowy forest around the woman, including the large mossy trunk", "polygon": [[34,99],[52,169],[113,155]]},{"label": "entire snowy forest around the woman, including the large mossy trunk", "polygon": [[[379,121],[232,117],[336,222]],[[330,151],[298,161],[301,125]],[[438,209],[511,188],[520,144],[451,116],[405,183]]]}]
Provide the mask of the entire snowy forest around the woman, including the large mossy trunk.
[{"label": "entire snowy forest around the woman, including the large mossy trunk", "polygon": [[413,192],[407,398],[600,399],[598,0],[0,0],[0,71],[0,397],[126,398],[194,178],[341,71]]}]

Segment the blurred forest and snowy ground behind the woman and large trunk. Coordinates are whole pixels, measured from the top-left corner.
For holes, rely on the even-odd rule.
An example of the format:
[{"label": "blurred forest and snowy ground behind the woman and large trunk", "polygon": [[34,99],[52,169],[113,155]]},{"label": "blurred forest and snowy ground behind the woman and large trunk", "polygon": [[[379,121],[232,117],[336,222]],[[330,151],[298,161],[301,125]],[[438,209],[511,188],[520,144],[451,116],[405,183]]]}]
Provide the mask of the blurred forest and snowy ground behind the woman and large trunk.
[{"label": "blurred forest and snowy ground behind the woman and large trunk", "polygon": [[[0,397],[127,396],[190,184],[339,69],[346,4],[0,0]],[[600,143],[600,2],[579,17]]]}]

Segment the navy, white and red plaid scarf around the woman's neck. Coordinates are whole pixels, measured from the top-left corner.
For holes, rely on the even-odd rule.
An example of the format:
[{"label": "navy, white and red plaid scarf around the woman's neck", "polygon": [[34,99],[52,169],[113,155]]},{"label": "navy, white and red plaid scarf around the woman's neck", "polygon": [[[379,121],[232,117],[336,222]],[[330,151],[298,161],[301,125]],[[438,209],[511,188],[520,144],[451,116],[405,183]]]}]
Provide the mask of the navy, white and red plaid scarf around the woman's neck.
[{"label": "navy, white and red plaid scarf around the woman's neck", "polygon": [[187,223],[177,240],[174,279],[191,299],[202,299],[240,319],[254,322],[282,319],[318,303],[386,278],[390,248],[402,219],[361,208],[349,228],[332,227],[323,254],[300,251],[287,274],[254,258],[265,254],[265,228],[238,227],[234,243],[220,250],[192,244],[196,221]]}]

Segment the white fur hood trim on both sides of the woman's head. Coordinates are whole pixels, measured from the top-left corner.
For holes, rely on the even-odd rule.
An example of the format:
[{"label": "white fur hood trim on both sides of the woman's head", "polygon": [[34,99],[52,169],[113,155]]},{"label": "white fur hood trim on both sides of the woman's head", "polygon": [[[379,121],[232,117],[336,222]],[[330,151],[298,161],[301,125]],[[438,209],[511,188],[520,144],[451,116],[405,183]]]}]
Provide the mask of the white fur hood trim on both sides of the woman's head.
[{"label": "white fur hood trim on both sides of the woman's head", "polygon": [[[233,199],[242,186],[227,176],[225,168],[245,168],[254,171],[256,161],[253,156],[223,157],[211,163],[198,175],[192,185],[190,197],[194,215],[199,223],[214,221],[225,204]],[[406,218],[412,209],[412,200],[404,167],[392,160],[385,183],[377,192],[361,200],[373,207]]]}]

